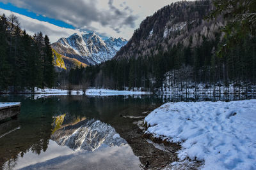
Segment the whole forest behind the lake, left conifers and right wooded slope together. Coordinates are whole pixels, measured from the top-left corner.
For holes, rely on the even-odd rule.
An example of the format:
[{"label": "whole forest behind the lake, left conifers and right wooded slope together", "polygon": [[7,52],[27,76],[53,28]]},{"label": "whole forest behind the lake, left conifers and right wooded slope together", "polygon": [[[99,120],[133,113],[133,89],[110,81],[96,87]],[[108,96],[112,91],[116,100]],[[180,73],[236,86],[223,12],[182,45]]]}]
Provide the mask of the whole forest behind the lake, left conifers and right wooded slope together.
[{"label": "whole forest behind the lake, left conifers and right wooded slope together", "polygon": [[29,36],[15,15],[2,15],[0,90],[128,87],[187,93],[202,84],[205,89],[232,85],[238,93],[252,92],[256,85],[253,6],[255,1],[248,0],[242,6],[220,0],[172,3],[145,18],[113,59],[87,67],[69,64],[71,69],[58,73],[54,70],[58,54],[52,52],[47,35]]}]

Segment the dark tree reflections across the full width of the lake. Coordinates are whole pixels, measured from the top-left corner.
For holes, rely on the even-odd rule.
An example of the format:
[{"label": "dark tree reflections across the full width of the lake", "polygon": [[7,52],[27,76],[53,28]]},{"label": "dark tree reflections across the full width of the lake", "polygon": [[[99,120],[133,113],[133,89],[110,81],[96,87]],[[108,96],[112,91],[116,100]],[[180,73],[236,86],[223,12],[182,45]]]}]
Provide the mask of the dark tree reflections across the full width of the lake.
[{"label": "dark tree reflections across the full width of the lake", "polygon": [[[252,98],[253,97],[255,96],[252,96]],[[95,118],[114,127],[116,132],[132,146],[134,153],[140,155],[139,149],[143,149],[143,147],[141,147],[140,143],[137,141],[132,141],[129,136],[137,133],[138,127],[132,124],[134,120],[125,119],[124,117],[120,117],[120,115],[136,116],[143,111],[156,108],[161,105],[163,101],[214,101],[216,99],[232,100],[237,98],[232,98],[232,96],[228,96],[228,98],[211,96],[163,96],[156,98],[152,96],[142,96],[141,98],[129,96],[56,96],[31,101],[30,99],[22,99],[19,97],[3,98],[1,96],[0,99],[2,101],[22,102],[18,124],[10,125],[11,129],[18,125],[20,125],[21,128],[0,138],[1,169],[4,162],[8,160],[15,162],[19,153],[22,156],[29,151],[37,154],[45,152],[49,144],[51,133],[54,131],[54,127],[52,129],[53,118],[60,117],[63,113],[66,113],[66,115],[63,122],[60,118],[61,128],[67,125],[77,124],[77,122],[84,120],[83,118],[85,117]],[[9,122],[8,124],[11,123]],[[141,135],[138,136],[137,139],[140,138]]]}]

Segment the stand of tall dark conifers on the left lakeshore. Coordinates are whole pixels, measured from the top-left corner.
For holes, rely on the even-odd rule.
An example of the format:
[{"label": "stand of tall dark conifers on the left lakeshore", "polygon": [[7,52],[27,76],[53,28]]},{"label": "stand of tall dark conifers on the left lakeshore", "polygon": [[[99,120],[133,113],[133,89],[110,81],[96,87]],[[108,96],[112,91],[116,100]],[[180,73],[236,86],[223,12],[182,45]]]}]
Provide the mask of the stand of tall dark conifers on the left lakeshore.
[{"label": "stand of tall dark conifers on the left lakeshore", "polygon": [[54,63],[51,43],[42,32],[29,36],[15,15],[0,16],[0,92],[52,87]]}]

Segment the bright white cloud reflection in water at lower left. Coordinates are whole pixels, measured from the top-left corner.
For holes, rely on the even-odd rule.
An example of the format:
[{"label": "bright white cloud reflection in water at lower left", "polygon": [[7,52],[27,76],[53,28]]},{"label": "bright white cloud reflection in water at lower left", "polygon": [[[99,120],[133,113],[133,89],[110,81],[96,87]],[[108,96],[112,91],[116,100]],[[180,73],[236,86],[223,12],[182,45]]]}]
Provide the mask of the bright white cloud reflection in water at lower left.
[{"label": "bright white cloud reflection in water at lower left", "polygon": [[[67,146],[59,146],[56,142],[50,140],[47,150],[45,152],[41,152],[40,155],[32,151],[25,153],[23,157],[19,155],[17,161],[14,162],[16,164],[14,169],[20,169],[22,167],[38,164],[40,162],[45,162],[64,155],[70,155],[72,153],[74,153],[74,151]],[[8,162],[4,164],[4,167],[8,169]]]}]

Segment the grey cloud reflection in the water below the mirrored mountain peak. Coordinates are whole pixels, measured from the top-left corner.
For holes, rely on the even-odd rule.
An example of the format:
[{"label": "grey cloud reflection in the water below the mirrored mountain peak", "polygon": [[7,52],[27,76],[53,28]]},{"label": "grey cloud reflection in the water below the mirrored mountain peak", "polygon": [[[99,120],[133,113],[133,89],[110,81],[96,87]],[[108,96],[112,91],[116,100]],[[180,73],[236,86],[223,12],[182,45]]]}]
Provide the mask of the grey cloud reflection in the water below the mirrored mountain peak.
[{"label": "grey cloud reflection in the water below the mirrored mountain peak", "polygon": [[24,169],[140,169],[140,160],[124,145],[48,159]]}]

